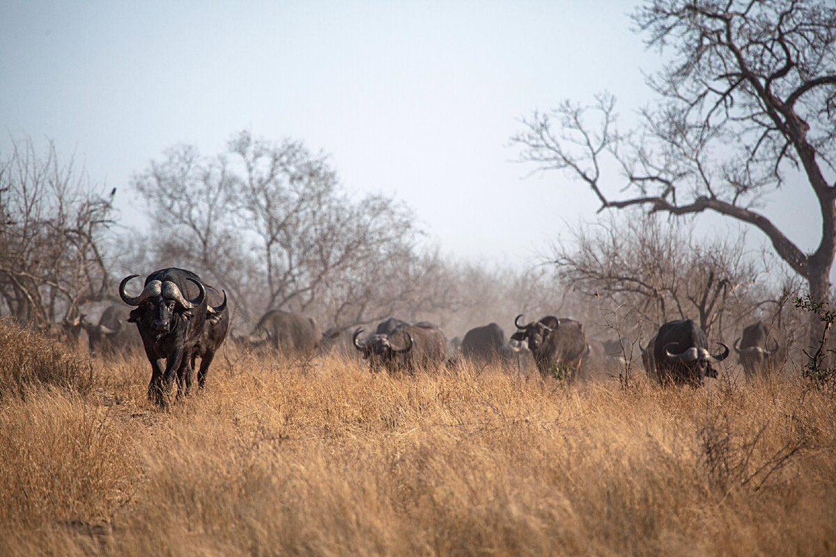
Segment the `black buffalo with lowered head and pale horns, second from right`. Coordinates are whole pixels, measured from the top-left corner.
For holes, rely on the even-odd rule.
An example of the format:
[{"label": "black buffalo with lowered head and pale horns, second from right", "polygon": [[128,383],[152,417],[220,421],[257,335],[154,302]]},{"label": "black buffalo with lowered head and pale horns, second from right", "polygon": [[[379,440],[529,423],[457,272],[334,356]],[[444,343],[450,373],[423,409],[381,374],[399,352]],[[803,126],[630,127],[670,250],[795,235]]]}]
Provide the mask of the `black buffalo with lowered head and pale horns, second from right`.
[{"label": "black buffalo with lowered head and pale horns, second from right", "polygon": [[670,321],[659,327],[654,347],[658,381],[701,385],[705,377],[717,377],[712,363],[721,362],[729,355],[729,348],[719,343],[724,351],[708,352],[706,333],[690,319]]}]

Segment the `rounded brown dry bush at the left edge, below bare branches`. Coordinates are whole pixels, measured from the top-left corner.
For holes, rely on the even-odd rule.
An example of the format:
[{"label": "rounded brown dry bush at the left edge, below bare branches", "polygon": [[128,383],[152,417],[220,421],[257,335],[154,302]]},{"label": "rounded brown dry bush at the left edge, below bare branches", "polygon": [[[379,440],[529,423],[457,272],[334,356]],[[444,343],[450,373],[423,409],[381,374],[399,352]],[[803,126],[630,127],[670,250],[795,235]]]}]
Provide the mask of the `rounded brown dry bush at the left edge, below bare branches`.
[{"label": "rounded brown dry bush at the left edge, below bare branches", "polygon": [[0,400],[25,397],[32,387],[89,392],[93,369],[67,345],[42,332],[0,319]]}]

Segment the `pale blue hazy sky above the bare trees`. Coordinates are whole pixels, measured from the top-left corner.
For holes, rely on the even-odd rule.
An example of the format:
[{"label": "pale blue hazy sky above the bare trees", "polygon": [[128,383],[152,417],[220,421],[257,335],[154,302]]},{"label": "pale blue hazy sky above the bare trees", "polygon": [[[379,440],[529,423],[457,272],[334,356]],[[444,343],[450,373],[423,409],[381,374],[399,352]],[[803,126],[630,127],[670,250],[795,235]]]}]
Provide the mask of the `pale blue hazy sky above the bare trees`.
[{"label": "pale blue hazy sky above the bare trees", "polygon": [[[523,180],[509,137],[566,98],[607,89],[623,119],[650,100],[640,70],[660,58],[634,5],[0,0],[0,154],[10,134],[54,139],[136,222],[130,176],[163,149],[301,139],[348,190],[404,200],[447,254],[517,265],[598,204],[560,172]],[[767,200],[812,251],[812,195]]]}]

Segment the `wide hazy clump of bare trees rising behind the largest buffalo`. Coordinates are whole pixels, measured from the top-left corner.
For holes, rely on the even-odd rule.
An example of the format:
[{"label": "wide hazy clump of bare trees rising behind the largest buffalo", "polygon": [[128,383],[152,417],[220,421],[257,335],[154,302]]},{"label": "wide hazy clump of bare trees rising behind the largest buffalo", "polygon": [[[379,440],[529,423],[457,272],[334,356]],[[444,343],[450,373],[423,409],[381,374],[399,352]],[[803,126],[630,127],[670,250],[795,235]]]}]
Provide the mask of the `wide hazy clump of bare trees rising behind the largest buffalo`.
[{"label": "wide hazy clump of bare trees rising behind the largest buffalo", "polygon": [[348,326],[447,303],[416,294],[437,266],[410,211],[382,195],[353,200],[328,158],[298,141],[245,131],[213,158],[178,146],[134,185],[162,239],[157,259],[206,272],[244,321],[284,308]]}]

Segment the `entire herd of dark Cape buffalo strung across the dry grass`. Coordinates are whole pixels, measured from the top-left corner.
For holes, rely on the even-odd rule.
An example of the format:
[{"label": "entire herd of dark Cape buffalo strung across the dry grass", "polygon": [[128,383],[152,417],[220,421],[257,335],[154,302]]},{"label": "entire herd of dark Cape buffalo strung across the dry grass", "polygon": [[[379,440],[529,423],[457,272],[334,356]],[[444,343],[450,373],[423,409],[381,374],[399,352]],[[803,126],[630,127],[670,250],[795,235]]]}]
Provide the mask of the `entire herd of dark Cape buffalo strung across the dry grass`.
[{"label": "entire herd of dark Cape buffalo strung across the dry grass", "polygon": [[[165,406],[176,381],[176,396],[191,391],[196,372],[198,387],[206,385],[206,376],[217,351],[231,327],[224,291],[207,285],[192,271],[167,268],[145,277],[142,291],[128,293],[129,283],[138,275],[125,276],[119,295],[133,309],[107,306],[98,322],[89,322],[85,314],[65,319],[64,329],[87,334],[94,353],[124,351],[137,336],[128,323],[135,323],[139,340],[151,366],[148,397]],[[78,314],[76,314],[78,315]],[[337,356],[363,359],[373,372],[415,374],[420,370],[436,371],[442,367],[457,369],[464,362],[484,367],[495,362],[508,371],[506,363],[516,362],[519,372],[537,369],[544,377],[575,382],[614,375],[629,369],[632,359],[630,342],[589,339],[584,325],[573,319],[543,316],[523,322],[523,314],[513,320],[517,331],[506,337],[502,327],[491,322],[472,327],[463,337],[448,343],[440,327],[430,322],[414,325],[395,317],[380,322],[374,333],[363,337],[363,327],[317,326],[308,316],[272,309],[258,320],[248,336],[234,337],[239,347],[273,350],[286,357]],[[743,329],[734,342],[735,352],[747,379],[774,368],[778,342],[769,337],[763,322]],[[459,340],[461,338],[461,341]],[[660,386],[698,386],[706,377],[717,377],[720,362],[729,348],[718,342],[721,350],[710,352],[706,332],[690,319],[665,322],[655,336],[639,343],[641,361],[647,377]],[[525,358],[523,358],[523,356]],[[200,359],[200,366],[197,360]],[[526,361],[528,358],[528,361]]]}]

